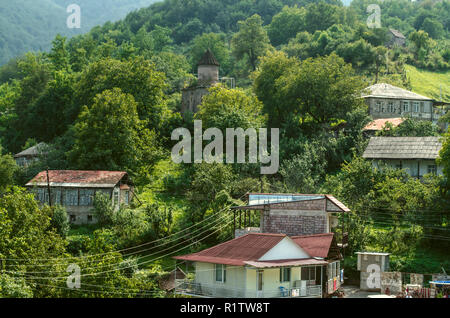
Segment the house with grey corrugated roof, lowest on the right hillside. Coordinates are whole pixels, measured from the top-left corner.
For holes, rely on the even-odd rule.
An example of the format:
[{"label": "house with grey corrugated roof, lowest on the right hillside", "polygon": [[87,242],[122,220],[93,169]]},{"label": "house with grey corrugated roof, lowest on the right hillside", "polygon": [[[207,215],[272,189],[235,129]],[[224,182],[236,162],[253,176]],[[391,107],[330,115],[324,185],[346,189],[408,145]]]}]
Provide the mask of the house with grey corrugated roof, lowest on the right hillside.
[{"label": "house with grey corrugated roof, lowest on the right hillside", "polygon": [[439,137],[372,137],[363,158],[372,160],[376,168],[387,165],[422,178],[426,174],[442,175],[442,166],[436,163],[441,148]]}]

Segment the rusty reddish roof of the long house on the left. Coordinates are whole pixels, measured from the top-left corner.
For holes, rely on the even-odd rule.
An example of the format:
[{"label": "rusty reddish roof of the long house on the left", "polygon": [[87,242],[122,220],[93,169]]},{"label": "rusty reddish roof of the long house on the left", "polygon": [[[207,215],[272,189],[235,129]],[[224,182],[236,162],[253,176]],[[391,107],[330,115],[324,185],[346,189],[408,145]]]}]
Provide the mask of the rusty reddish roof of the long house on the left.
[{"label": "rusty reddish roof of the long house on the left", "polygon": [[[55,184],[98,184],[116,185],[126,175],[124,171],[82,171],[82,170],[50,170],[49,181]],[[47,183],[47,172],[41,171],[27,186]]]}]

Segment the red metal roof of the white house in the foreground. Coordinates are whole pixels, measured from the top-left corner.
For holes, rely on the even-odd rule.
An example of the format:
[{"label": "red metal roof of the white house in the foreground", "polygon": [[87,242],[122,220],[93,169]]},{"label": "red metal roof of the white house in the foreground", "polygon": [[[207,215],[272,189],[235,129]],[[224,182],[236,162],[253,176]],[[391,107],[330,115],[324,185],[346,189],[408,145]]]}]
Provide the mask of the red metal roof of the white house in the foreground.
[{"label": "red metal roof of the white house in the foreground", "polygon": [[285,234],[249,233],[206,250],[188,255],[175,256],[174,258],[193,262],[234,266],[251,265],[255,267],[319,265],[319,263],[326,263],[324,261],[314,260],[313,257],[327,257],[333,239],[333,233],[292,237],[293,241],[303,248],[311,258],[267,262],[258,261],[285,237],[287,237]]}]

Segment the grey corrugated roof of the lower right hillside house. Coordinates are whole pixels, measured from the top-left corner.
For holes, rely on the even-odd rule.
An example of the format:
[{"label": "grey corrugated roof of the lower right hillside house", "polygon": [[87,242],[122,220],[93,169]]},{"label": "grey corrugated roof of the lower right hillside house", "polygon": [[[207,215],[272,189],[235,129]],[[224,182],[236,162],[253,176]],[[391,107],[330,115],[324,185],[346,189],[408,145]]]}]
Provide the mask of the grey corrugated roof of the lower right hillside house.
[{"label": "grey corrugated roof of the lower right hillside house", "polygon": [[436,159],[439,137],[372,137],[364,151],[367,159]]}]

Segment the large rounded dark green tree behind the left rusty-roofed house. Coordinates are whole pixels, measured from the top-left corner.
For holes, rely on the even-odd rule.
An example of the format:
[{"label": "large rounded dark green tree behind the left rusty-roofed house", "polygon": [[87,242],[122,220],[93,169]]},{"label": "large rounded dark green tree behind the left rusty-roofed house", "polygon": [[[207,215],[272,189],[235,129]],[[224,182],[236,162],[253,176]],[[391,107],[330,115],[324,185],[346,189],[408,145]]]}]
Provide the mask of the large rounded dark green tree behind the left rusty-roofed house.
[{"label": "large rounded dark green tree behind the left rusty-roofed house", "polygon": [[69,159],[79,169],[127,170],[148,174],[158,158],[155,133],[139,119],[138,104],[120,88],[105,90],[83,110],[74,126]]}]

